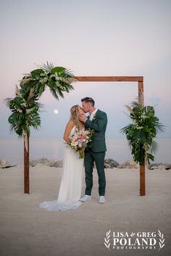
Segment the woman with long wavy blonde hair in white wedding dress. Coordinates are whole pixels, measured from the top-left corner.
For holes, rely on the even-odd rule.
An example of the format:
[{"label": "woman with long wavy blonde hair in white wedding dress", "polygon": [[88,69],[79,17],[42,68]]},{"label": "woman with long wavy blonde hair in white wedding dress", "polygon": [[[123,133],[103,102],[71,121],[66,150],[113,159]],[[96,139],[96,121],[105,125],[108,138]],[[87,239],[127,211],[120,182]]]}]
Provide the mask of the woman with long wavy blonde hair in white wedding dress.
[{"label": "woman with long wavy blonde hair in white wedding dress", "polygon": [[[70,109],[70,120],[64,131],[64,140],[70,144],[70,139],[75,130],[83,131],[84,125],[79,120],[79,115],[85,112],[79,105]],[[81,189],[83,178],[83,158],[78,157],[78,153],[70,147],[66,147],[64,152],[63,176],[60,183],[58,199],[49,202],[42,202],[39,207],[48,211],[71,210],[81,205]]]}]

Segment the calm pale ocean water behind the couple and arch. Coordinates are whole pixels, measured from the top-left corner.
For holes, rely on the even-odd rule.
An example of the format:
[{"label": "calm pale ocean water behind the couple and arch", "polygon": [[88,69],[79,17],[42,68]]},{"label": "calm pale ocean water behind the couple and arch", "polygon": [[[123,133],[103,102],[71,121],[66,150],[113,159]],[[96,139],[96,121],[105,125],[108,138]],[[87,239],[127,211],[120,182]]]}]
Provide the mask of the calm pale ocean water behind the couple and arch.
[{"label": "calm pale ocean water behind the couple and arch", "polygon": [[[119,163],[132,159],[127,139],[111,138],[106,141],[106,158],[112,158]],[[156,141],[159,144],[159,150],[155,155],[154,162],[171,163],[171,138],[156,139]],[[49,160],[62,160],[64,147],[63,139],[30,138],[30,160],[41,157],[46,157]],[[23,139],[0,139],[0,159],[5,159],[12,165],[23,162]]]}]

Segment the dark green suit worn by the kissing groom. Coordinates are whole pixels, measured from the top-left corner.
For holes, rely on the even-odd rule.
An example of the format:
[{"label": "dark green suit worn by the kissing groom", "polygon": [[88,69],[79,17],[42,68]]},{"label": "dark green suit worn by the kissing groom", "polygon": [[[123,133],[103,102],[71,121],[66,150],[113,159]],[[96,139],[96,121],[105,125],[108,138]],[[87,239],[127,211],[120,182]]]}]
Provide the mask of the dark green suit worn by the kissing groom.
[{"label": "dark green suit worn by the kissing groom", "polygon": [[93,188],[93,162],[96,163],[99,176],[99,196],[104,196],[106,188],[106,178],[104,173],[104,157],[107,151],[105,143],[105,131],[107,128],[107,114],[97,110],[93,120],[87,119],[86,127],[93,128],[95,131],[92,139],[91,149],[85,151],[85,170],[86,170],[86,191],[85,194],[91,195]]}]

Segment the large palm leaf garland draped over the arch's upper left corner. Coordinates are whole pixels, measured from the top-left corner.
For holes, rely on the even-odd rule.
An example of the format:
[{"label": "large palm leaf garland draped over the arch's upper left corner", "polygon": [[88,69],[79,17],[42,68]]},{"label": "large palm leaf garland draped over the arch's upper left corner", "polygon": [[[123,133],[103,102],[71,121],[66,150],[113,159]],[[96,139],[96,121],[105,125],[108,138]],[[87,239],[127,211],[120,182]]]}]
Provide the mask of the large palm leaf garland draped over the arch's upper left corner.
[{"label": "large palm leaf garland draped over the arch's upper left corner", "polygon": [[64,92],[73,90],[73,81],[75,77],[70,70],[54,67],[49,62],[25,75],[20,81],[20,88],[16,86],[14,99],[6,99],[7,106],[12,111],[12,115],[9,116],[11,130],[18,136],[24,136],[25,133],[29,136],[30,126],[37,129],[41,125],[41,104],[38,103],[38,99],[46,87],[49,87],[51,94],[59,100],[59,96],[64,97]]}]

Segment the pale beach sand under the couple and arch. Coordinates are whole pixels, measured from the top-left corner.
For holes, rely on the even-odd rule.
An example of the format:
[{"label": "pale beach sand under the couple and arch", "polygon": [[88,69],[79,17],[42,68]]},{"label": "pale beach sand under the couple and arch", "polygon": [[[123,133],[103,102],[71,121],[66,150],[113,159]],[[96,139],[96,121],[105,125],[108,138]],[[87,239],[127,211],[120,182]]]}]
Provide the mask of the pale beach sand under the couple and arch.
[{"label": "pale beach sand under the couple and arch", "polygon": [[[1,256],[171,255],[170,170],[146,170],[146,197],[139,196],[138,169],[105,169],[106,203],[98,203],[96,169],[90,202],[77,210],[48,212],[38,207],[57,199],[62,169],[30,168],[30,194],[23,194],[22,165],[0,169]],[[83,177],[84,179],[84,177]],[[85,184],[83,180],[83,194]],[[112,249],[104,246],[107,231],[157,232],[164,247]],[[112,241],[111,241],[112,244]]]}]

